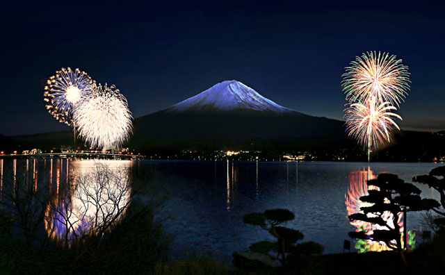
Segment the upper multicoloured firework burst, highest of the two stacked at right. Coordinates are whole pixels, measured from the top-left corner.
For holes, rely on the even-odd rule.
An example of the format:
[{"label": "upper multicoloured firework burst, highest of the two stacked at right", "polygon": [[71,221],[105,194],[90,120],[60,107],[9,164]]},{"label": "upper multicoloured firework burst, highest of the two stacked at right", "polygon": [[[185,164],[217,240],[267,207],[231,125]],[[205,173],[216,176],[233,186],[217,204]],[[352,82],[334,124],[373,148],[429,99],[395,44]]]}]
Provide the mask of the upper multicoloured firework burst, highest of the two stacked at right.
[{"label": "upper multicoloured firework burst, highest of the two stacked at right", "polygon": [[409,83],[410,73],[401,59],[371,51],[357,56],[350,67],[346,67],[341,86],[350,103],[375,97],[380,103],[389,101],[398,106],[410,90]]}]

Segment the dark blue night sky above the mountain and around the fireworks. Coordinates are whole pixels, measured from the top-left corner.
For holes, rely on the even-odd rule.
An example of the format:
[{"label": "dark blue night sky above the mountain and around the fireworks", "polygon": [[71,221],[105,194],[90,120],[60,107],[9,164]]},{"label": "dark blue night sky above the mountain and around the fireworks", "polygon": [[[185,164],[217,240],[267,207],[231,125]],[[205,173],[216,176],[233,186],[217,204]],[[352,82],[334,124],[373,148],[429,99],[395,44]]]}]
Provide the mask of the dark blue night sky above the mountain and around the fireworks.
[{"label": "dark blue night sky above the mountain and around the fireworks", "polygon": [[410,68],[403,129],[445,130],[445,2],[360,2],[1,1],[0,133],[70,130],[44,108],[45,81],[61,67],[115,84],[135,118],[235,79],[287,108],[343,119],[341,74],[365,51]]}]

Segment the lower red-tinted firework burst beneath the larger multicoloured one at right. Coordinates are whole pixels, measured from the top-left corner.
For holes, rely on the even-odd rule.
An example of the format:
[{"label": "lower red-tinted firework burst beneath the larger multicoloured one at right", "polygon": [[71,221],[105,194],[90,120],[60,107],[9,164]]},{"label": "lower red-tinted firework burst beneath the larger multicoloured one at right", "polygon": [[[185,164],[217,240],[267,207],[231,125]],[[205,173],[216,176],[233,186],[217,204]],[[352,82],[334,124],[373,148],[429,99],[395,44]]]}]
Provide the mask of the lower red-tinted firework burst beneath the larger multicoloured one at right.
[{"label": "lower red-tinted firework burst beneath the larger multicoloured one at right", "polygon": [[397,109],[388,101],[378,103],[375,98],[370,99],[366,104],[351,104],[346,109],[345,115],[348,135],[353,136],[360,144],[368,148],[378,147],[378,142],[390,141],[389,131],[393,126],[398,128],[391,117],[402,119],[400,115],[391,113],[391,110]]}]

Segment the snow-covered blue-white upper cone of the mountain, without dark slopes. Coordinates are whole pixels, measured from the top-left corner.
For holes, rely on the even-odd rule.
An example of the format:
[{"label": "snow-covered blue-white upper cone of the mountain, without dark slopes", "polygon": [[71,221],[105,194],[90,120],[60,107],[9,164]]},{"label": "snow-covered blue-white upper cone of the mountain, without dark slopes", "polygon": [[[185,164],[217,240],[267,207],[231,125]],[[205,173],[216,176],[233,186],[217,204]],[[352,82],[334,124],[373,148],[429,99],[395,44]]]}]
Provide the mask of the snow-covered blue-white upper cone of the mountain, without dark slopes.
[{"label": "snow-covered blue-white upper cone of the mountain, without dark slopes", "polygon": [[295,110],[285,108],[266,99],[258,92],[239,81],[223,81],[167,109],[168,112],[185,110],[259,110],[276,113],[293,113]]}]

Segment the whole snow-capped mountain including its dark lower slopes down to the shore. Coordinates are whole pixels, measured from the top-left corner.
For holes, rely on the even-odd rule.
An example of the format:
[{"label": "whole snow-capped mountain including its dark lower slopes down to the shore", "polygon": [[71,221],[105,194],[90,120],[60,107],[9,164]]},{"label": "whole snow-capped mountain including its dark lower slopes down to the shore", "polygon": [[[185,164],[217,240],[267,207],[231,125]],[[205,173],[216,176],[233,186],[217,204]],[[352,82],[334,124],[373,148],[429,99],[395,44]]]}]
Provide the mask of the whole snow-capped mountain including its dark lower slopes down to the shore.
[{"label": "whole snow-capped mountain including its dark lower slopes down to the shore", "polygon": [[145,149],[319,149],[350,144],[343,122],[298,113],[238,81],[223,81],[138,117],[129,146]]}]

